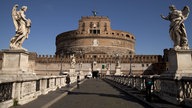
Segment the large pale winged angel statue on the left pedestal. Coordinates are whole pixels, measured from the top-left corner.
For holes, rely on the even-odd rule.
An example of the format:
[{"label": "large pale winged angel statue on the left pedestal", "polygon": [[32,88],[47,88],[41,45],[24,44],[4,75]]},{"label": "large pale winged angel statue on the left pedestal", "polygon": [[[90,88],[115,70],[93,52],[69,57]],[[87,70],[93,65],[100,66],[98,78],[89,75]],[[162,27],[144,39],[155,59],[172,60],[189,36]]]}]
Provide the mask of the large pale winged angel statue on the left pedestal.
[{"label": "large pale winged angel statue on the left pedestal", "polygon": [[30,33],[31,20],[25,17],[27,6],[22,6],[19,11],[17,11],[17,8],[18,4],[14,5],[12,9],[12,18],[16,34],[11,38],[10,49],[26,50],[22,47],[22,44]]}]

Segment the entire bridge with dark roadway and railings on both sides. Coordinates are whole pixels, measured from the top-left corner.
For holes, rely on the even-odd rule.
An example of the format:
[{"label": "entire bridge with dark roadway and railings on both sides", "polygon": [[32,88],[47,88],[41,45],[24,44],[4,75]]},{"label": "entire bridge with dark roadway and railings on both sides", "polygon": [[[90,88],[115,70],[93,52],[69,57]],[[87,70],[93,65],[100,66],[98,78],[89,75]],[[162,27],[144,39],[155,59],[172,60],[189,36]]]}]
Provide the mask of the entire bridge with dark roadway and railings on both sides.
[{"label": "entire bridge with dark roadway and railings on both sides", "polygon": [[[163,98],[160,98],[160,95],[162,95],[162,92],[160,92],[160,90],[163,90],[162,88],[160,88],[160,83],[164,80],[174,81],[178,84],[181,84],[181,87],[183,88],[180,88],[180,90],[183,94],[180,96],[182,97],[179,97],[179,95],[175,97],[182,100],[180,104],[173,104],[171,102],[163,100]],[[150,94],[147,94],[147,82],[149,81],[151,81]],[[13,108],[190,107],[190,102],[192,102],[190,91],[191,81],[191,79],[187,78],[181,80],[160,79],[159,76],[105,76],[98,79],[82,79],[80,87],[77,88],[75,78],[72,80],[72,84],[70,85],[70,87],[66,87],[66,85],[64,85],[64,77],[53,77],[48,79],[38,79],[34,83],[35,90],[31,93],[28,92],[25,94],[22,94],[23,91],[21,89],[21,91],[16,91],[14,89],[17,88],[18,85],[22,86],[23,83],[31,83],[31,81],[7,82],[0,84],[0,105],[2,108],[6,108],[6,104],[12,103],[14,101],[12,106]],[[61,86],[60,84],[63,84],[64,86]],[[171,91],[171,89],[172,88],[170,88],[170,95],[173,95],[174,91]],[[181,93],[181,91],[177,90],[178,93]],[[13,92],[20,92],[19,95],[21,99],[13,99]],[[36,98],[30,100],[29,96],[36,96]],[[28,100],[26,100],[26,97],[28,98]],[[25,100],[22,100],[22,98]],[[28,102],[22,105],[19,104],[24,101]]]}]

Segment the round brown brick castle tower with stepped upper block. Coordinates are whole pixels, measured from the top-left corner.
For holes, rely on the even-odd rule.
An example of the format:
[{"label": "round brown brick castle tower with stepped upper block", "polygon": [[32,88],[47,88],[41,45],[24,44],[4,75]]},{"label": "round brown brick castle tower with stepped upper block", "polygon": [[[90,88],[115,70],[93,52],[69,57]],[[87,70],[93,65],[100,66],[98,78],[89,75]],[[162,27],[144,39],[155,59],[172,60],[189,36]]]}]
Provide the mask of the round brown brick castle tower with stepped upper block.
[{"label": "round brown brick castle tower with stepped upper block", "polygon": [[112,30],[104,16],[84,16],[77,30],[56,37],[56,55],[83,51],[84,54],[135,54],[135,37],[131,33]]}]

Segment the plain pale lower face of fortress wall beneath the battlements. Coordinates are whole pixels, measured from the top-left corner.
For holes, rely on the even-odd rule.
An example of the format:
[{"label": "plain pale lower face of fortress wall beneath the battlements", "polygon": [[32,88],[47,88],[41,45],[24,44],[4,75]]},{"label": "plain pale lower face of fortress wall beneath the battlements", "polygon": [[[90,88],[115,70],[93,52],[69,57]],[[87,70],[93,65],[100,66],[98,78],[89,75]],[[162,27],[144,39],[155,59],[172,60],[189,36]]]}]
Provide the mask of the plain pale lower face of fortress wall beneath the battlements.
[{"label": "plain pale lower face of fortress wall beneath the battlements", "polygon": [[[79,64],[75,65],[76,72],[79,72],[80,69],[84,74],[87,74],[88,72],[92,71],[91,63],[82,63],[82,68],[80,68]],[[102,69],[102,65],[105,66],[104,69]],[[107,67],[108,66],[108,67]],[[111,66],[109,63],[97,63],[97,66],[94,66],[96,70],[99,72],[106,72],[106,70],[115,71],[115,63],[111,63]],[[152,71],[152,64],[151,63],[132,63],[132,72],[133,74],[142,74],[144,71],[149,70]],[[58,75],[61,69],[60,63],[36,63],[35,67],[35,73],[37,75]],[[69,72],[70,64],[69,63],[63,63],[62,70]],[[128,74],[130,71],[130,64],[129,63],[121,63],[121,71],[124,74]]]}]

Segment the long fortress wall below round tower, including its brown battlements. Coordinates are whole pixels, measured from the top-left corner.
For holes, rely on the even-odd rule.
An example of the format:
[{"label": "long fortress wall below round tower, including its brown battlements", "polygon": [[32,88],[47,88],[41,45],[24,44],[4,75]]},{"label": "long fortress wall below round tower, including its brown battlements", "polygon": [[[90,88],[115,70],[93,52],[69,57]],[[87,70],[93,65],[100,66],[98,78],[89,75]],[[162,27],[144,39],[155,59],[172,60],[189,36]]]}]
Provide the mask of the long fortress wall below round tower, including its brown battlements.
[{"label": "long fortress wall below round tower, including its brown battlements", "polygon": [[[0,52],[0,68],[2,67],[2,53]],[[94,56],[96,57],[94,59]],[[106,54],[84,54],[81,57],[75,55],[76,57],[76,71],[80,70],[79,63],[82,63],[81,70],[85,73],[90,72],[92,68],[92,63],[95,60],[97,66],[95,69],[99,71],[106,71],[111,69],[112,72],[115,71],[116,59],[114,55]],[[162,56],[160,55],[132,55],[131,66],[132,71],[135,73],[142,73],[148,70],[160,71],[164,68],[162,62]],[[70,55],[64,55],[62,58],[62,70],[69,71],[71,58]],[[111,64],[111,66],[110,66]],[[124,73],[129,73],[130,71],[130,55],[120,56],[121,71]],[[102,69],[102,65],[105,66]],[[36,73],[37,75],[58,75],[61,70],[61,57],[55,55],[37,55],[36,53],[29,54],[29,71]]]}]

